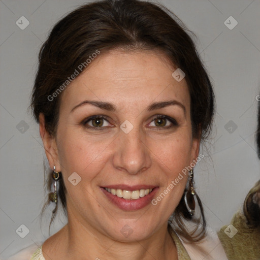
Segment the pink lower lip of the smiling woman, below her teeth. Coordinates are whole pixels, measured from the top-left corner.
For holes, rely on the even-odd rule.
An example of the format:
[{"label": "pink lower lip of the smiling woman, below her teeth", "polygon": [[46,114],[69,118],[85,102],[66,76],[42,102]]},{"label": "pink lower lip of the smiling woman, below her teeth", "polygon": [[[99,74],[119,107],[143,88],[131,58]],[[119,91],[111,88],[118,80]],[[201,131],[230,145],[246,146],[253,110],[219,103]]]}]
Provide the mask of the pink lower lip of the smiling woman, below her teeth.
[{"label": "pink lower lip of the smiling woman, below her teeth", "polygon": [[113,195],[112,193],[105,190],[105,188],[101,188],[103,193],[106,195],[106,197],[115,204],[118,208],[122,210],[138,210],[142,209],[148,204],[151,204],[151,201],[154,197],[154,194],[156,193],[158,187],[153,188],[153,190],[146,196],[139,198],[137,200],[126,200],[123,198],[119,198],[116,195]]}]

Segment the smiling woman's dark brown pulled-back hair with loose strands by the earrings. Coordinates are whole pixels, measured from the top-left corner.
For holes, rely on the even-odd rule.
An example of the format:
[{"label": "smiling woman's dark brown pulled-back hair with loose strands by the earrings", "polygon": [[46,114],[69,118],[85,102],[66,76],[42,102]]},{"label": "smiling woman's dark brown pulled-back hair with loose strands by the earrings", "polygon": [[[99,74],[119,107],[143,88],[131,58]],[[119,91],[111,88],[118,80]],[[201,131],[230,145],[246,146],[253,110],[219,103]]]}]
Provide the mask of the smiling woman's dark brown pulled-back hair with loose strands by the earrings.
[{"label": "smiling woman's dark brown pulled-back hair with loose strands by the earrings", "polygon": [[[36,121],[39,123],[39,114],[43,113],[46,131],[55,137],[62,93],[52,101],[48,96],[96,50],[159,49],[168,56],[174,67],[185,73],[191,100],[192,135],[205,141],[212,125],[215,98],[207,72],[188,34],[193,35],[178,17],[158,4],[137,0],[104,0],[79,7],[53,27],[40,50],[39,68],[31,96]],[[49,176],[47,183],[50,187],[51,174]],[[62,178],[58,198],[66,213],[66,188]],[[193,219],[188,214],[184,196],[173,213],[175,231],[191,242],[203,238],[206,231],[203,207],[199,197],[197,199],[201,208],[200,219]],[[51,223],[56,210],[57,206]],[[201,223],[202,229],[195,234],[197,227],[190,233],[183,220]]]}]

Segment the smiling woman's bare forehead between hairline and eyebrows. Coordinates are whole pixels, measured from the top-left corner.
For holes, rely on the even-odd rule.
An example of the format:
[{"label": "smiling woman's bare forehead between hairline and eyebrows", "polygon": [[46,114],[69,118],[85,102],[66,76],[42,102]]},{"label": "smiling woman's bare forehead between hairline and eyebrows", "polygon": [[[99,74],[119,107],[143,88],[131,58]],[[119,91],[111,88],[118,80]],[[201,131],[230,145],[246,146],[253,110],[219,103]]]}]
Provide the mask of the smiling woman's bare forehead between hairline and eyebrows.
[{"label": "smiling woman's bare forehead between hairline and eyebrows", "polygon": [[128,104],[146,104],[176,99],[189,109],[185,78],[172,77],[174,68],[159,51],[104,52],[96,57],[62,94],[61,106],[72,107],[84,99]]}]

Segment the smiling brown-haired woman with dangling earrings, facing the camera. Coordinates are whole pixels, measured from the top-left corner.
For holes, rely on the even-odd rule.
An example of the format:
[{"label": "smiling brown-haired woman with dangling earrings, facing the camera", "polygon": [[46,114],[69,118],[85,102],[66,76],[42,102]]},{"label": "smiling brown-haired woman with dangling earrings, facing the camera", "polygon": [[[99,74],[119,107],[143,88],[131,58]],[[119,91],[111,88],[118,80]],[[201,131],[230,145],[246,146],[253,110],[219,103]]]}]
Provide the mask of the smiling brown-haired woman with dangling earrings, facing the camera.
[{"label": "smiling brown-haired woman with dangling earrings, facing the camera", "polygon": [[54,26],[31,106],[68,224],[24,259],[225,259],[193,186],[214,93],[185,30],[134,0]]}]

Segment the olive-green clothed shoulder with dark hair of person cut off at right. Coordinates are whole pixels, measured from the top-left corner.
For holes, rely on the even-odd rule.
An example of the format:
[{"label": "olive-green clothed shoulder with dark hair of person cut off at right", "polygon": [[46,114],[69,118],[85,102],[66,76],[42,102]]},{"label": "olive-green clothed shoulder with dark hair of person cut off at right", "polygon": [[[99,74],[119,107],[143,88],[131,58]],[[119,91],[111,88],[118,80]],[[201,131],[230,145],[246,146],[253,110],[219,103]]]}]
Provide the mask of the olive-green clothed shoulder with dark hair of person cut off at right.
[{"label": "olive-green clothed shoulder with dark hair of person cut off at right", "polygon": [[260,259],[260,180],[248,192],[243,208],[231,223],[220,229],[218,237],[230,260]]}]

